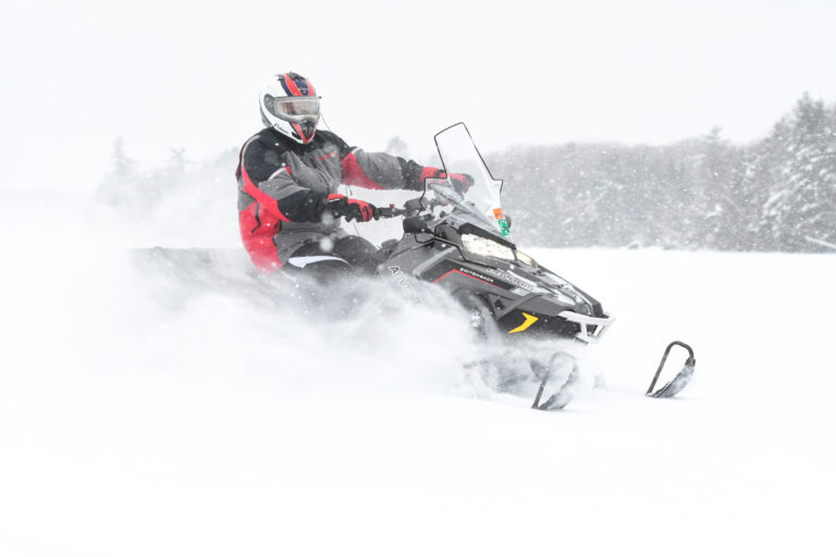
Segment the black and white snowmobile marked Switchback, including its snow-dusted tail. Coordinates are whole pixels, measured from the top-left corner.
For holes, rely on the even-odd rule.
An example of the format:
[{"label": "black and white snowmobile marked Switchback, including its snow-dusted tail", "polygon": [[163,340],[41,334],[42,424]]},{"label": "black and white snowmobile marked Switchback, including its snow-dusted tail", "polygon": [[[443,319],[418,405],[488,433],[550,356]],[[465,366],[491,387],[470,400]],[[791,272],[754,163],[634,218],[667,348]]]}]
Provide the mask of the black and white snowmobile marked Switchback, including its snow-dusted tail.
[{"label": "black and white snowmobile marked Switchback, including its snow-dusted tail", "polygon": [[[598,343],[615,318],[591,295],[517,248],[511,218],[502,209],[502,181],[491,175],[464,123],[443,129],[434,140],[446,175],[467,175],[472,184],[457,189],[450,180],[429,178],[420,197],[380,208],[381,218],[403,219],[403,235],[381,244],[378,274],[415,301],[421,290],[440,287],[466,309],[484,355],[468,367],[490,389],[533,394],[536,409],[564,408],[580,382],[577,348]],[[235,287],[258,304],[286,298],[286,288],[272,275],[256,273],[243,250],[158,247],[136,250],[134,257],[142,267],[201,290]],[[677,345],[689,358],[669,383],[654,391]],[[690,381],[694,364],[688,345],[672,343],[648,396],[674,396]]]}]

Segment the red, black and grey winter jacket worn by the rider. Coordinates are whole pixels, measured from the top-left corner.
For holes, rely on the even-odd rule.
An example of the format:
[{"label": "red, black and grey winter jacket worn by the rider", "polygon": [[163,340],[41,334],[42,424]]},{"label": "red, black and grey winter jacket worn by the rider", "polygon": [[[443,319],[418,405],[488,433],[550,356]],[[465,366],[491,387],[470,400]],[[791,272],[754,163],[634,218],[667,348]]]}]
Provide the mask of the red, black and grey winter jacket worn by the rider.
[{"label": "red, black and grey winter jacket worn by the rider", "polygon": [[258,268],[281,269],[291,245],[339,226],[323,222],[322,213],[340,184],[421,190],[423,174],[415,161],[348,147],[331,132],[302,145],[265,128],[244,144],[235,171],[244,247]]}]

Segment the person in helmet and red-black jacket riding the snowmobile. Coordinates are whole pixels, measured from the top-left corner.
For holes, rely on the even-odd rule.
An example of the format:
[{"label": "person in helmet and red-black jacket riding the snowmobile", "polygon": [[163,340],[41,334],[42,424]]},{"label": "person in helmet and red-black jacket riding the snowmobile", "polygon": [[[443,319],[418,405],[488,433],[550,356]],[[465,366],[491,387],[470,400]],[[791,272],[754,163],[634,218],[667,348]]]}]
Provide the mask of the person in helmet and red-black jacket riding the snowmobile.
[{"label": "person in helmet and red-black jacket riding the snowmobile", "polygon": [[[337,187],[421,191],[426,178],[446,175],[317,132],[319,103],[310,81],[293,72],[274,75],[261,90],[265,128],[244,144],[235,172],[244,247],[263,271],[373,273],[377,248],[342,230],[340,218],[370,221],[379,218],[378,208],[337,194]],[[464,174],[450,182],[462,191],[474,183]]]}]

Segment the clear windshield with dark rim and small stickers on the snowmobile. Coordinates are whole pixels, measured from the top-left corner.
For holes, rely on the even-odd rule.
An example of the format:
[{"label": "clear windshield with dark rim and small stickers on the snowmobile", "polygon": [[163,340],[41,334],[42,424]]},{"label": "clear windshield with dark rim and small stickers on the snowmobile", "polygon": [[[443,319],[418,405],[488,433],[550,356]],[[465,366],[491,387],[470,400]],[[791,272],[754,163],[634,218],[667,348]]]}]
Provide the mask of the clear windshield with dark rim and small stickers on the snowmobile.
[{"label": "clear windshield with dark rim and small stickers on the snowmobile", "polygon": [[[511,231],[502,211],[502,181],[491,175],[467,126],[458,123],[439,132],[435,146],[447,175],[466,175],[472,180],[472,184],[464,190],[447,181],[447,186],[453,190],[451,200],[456,203],[456,208],[477,216],[488,230],[511,242]],[[427,188],[430,187],[432,185],[427,184]]]}]

